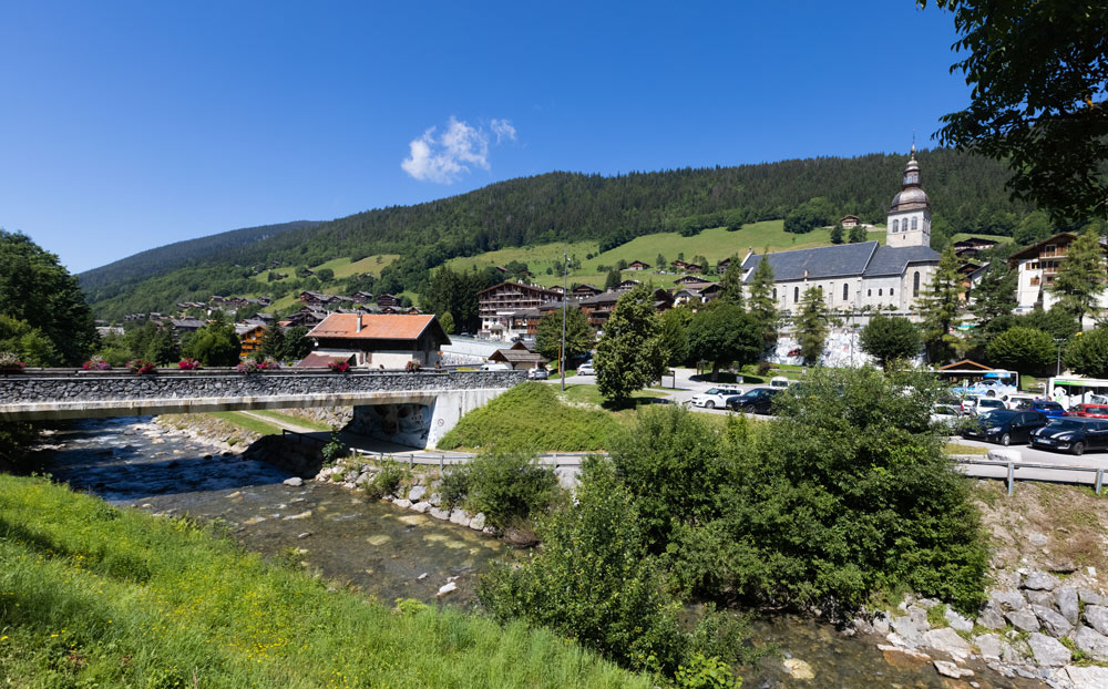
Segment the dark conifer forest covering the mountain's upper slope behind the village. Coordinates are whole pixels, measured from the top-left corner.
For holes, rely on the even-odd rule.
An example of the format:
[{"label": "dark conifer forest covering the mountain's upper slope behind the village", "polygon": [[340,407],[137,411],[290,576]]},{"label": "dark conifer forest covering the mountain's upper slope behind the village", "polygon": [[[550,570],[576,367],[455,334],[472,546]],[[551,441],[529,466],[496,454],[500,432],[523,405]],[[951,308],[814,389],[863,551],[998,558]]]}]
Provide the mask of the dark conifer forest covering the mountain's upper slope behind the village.
[{"label": "dark conifer forest covering the mountain's upper slope behind the village", "polygon": [[[1008,173],[999,163],[950,150],[923,151],[917,158],[938,244],[957,232],[1010,235],[1030,210],[1009,200],[1004,188]],[[883,223],[906,160],[871,154],[613,177],[554,172],[203,249],[186,261],[156,249],[84,274],[82,286],[100,317],[119,318],[212,294],[284,294],[294,285],[268,285],[256,277],[273,267],[318,266],[338,257],[399,254],[373,290],[419,292],[430,269],[445,260],[505,247],[593,240],[605,250],[643,235],[689,236],[707,227],[737,228],[801,213],[828,222],[851,213]],[[141,271],[109,270],[131,260]]]}]

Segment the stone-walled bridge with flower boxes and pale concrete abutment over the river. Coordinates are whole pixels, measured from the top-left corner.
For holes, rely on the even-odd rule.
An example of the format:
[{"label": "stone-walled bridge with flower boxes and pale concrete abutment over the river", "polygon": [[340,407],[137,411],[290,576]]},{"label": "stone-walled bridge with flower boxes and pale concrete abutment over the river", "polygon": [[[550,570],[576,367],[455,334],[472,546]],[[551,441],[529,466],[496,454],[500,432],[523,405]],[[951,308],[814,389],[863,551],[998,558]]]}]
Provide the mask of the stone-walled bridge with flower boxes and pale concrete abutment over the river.
[{"label": "stone-walled bridge with flower boxes and pale concrete abutment over the river", "polygon": [[523,382],[525,371],[42,370],[0,373],[0,421],[178,414],[294,407],[355,408],[348,430],[434,448],[464,414]]}]

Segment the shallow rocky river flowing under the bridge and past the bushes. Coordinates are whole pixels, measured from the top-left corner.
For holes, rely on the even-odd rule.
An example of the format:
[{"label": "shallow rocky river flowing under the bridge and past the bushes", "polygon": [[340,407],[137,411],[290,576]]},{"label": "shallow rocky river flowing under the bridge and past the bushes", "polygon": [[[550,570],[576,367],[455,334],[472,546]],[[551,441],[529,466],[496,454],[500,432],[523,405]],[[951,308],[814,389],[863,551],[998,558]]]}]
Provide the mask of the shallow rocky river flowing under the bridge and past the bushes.
[{"label": "shallow rocky river flowing under the bridge and past the bushes", "polygon": [[[511,557],[499,541],[472,529],[372,501],[337,485],[305,482],[266,463],[214,451],[144,418],[72,422],[48,439],[53,477],[105,501],[151,514],[215,522],[248,549],[293,561],[353,584],[367,595],[475,607],[478,576],[494,557]],[[971,687],[938,676],[930,662],[886,661],[879,638],[847,637],[830,626],[784,616],[753,623],[756,645],[781,655],[743,670],[746,689],[820,687],[940,689]],[[811,666],[815,678],[790,677],[782,658]],[[1045,683],[1008,679],[983,664],[967,664],[983,689],[1032,689]]]}]

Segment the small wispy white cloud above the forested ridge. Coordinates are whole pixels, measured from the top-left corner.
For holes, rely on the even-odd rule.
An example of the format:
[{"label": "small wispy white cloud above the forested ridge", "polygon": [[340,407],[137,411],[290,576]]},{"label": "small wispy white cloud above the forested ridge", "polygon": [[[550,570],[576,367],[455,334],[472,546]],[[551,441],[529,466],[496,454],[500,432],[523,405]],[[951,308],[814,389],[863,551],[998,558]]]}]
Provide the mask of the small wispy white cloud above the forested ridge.
[{"label": "small wispy white cloud above the forested ridge", "polygon": [[[502,140],[515,140],[515,127],[507,120],[493,120],[490,124]],[[406,173],[424,182],[451,184],[471,166],[491,169],[489,166],[489,133],[483,127],[473,127],[465,121],[450,117],[447,128],[435,136],[438,127],[423,132],[419,138],[409,142],[409,155],[401,161]]]}]

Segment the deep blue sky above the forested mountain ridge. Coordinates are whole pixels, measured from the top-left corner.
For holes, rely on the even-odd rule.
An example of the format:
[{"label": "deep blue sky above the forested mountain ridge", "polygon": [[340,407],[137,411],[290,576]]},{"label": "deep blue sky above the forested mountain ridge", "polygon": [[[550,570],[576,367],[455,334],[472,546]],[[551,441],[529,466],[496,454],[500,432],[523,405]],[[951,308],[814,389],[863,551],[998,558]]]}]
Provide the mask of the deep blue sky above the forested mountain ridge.
[{"label": "deep blue sky above the forested mountain ridge", "polygon": [[81,271],[552,169],[903,153],[968,100],[955,38],[913,0],[7,2],[0,227]]}]

